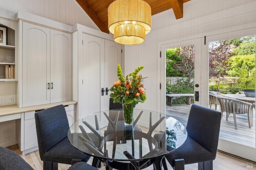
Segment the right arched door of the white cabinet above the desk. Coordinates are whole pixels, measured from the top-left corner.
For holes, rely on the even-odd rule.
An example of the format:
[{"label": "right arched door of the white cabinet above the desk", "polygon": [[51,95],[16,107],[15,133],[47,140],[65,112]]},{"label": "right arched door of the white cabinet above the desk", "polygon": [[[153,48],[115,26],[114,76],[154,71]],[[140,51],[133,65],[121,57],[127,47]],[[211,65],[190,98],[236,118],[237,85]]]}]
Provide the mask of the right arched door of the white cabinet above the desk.
[{"label": "right arched door of the white cabinet above the desk", "polygon": [[50,103],[72,99],[71,34],[51,30]]}]

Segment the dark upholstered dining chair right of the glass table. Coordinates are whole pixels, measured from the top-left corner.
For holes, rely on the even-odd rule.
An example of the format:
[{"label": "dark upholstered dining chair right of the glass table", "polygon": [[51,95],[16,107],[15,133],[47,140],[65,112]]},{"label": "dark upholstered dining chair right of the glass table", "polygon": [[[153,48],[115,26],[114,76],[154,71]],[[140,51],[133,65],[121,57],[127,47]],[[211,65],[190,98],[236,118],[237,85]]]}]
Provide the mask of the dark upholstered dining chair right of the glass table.
[{"label": "dark upholstered dining chair right of the glass table", "polygon": [[198,163],[198,170],[212,170],[216,158],[221,113],[193,104],[186,126],[188,137],[175,152],[166,155],[174,170]]}]

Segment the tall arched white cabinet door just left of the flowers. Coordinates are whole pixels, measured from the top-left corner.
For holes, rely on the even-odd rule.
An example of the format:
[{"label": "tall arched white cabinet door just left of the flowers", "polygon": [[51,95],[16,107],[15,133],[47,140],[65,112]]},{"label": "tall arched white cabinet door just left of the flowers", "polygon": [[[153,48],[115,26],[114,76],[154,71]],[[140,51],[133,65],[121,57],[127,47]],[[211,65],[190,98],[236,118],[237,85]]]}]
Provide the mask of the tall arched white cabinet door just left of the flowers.
[{"label": "tall arched white cabinet door just left of the flowers", "polygon": [[[100,111],[104,88],[104,39],[83,34],[82,72],[78,82],[78,118]],[[103,68],[102,68],[103,67]],[[103,80],[102,80],[103,79]]]}]

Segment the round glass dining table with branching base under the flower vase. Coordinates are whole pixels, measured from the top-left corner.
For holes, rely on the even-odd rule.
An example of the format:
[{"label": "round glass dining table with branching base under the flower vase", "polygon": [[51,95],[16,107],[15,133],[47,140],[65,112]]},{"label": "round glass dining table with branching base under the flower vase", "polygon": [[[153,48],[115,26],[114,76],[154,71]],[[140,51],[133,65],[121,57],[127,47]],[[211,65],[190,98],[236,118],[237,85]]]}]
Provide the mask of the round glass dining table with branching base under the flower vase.
[{"label": "round glass dining table with branching base under the flower vase", "polygon": [[93,166],[103,162],[106,170],[139,170],[152,164],[160,170],[164,156],[186,138],[186,128],[173,117],[140,109],[134,109],[131,126],[124,125],[122,110],[107,110],[79,119],[68,131],[70,143],[93,156]]}]

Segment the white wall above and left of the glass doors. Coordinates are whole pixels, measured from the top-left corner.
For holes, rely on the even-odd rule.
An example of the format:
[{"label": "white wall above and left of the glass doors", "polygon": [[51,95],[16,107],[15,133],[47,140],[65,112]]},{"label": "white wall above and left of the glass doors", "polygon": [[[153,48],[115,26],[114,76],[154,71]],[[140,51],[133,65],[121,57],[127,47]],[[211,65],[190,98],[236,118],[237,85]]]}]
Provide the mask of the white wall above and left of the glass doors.
[{"label": "white wall above and left of the glass doors", "polygon": [[[152,16],[152,31],[140,45],[125,45],[125,73],[144,65],[147,100],[137,108],[160,111],[160,44],[256,26],[256,0],[191,0],[184,18],[172,10]],[[206,93],[208,94],[208,92]]]}]

